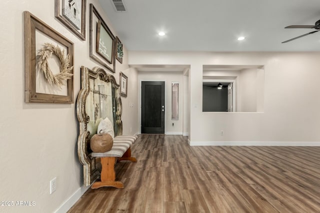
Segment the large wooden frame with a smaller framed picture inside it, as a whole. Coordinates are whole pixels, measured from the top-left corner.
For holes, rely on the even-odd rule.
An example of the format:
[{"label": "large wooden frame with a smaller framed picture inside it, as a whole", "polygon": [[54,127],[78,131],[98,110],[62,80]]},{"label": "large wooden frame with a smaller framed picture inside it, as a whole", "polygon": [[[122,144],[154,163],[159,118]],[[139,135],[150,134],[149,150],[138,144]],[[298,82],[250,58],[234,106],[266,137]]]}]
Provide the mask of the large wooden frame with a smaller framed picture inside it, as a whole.
[{"label": "large wooden frame with a smaller framed picture inside it, as a whole", "polygon": [[89,56],[110,72],[115,72],[115,37],[90,3]]}]

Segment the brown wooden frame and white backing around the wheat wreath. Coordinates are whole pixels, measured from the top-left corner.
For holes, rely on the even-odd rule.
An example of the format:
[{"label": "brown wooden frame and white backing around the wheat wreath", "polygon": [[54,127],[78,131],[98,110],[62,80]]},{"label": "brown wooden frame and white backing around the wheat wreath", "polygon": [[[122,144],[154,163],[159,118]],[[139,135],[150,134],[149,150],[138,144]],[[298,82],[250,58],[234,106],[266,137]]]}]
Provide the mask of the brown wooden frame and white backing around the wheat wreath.
[{"label": "brown wooden frame and white backing around the wheat wreath", "polygon": [[[50,42],[59,46],[69,55],[68,67],[73,66],[73,43],[55,31],[43,21],[24,11],[24,51],[25,51],[25,102],[38,103],[73,103],[73,76],[65,80],[65,85],[59,89],[49,85],[44,74],[40,72],[37,63],[37,51],[40,44]],[[44,40],[44,41],[43,41]],[[57,64],[57,63],[55,63]],[[58,65],[57,65],[58,66]],[[53,69],[52,69],[53,70]],[[59,72],[58,68],[54,70]],[[73,68],[70,70],[73,74]]]}]

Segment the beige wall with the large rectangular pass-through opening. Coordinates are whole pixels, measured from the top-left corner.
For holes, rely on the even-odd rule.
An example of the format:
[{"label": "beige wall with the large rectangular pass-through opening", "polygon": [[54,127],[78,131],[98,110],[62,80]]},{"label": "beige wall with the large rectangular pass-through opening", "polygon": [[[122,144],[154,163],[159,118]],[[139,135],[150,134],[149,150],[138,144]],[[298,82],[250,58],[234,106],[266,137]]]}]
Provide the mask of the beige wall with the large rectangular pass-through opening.
[{"label": "beige wall with the large rectangular pass-through opening", "polygon": [[[129,51],[129,55],[129,64],[191,64],[189,140],[192,145],[320,141],[319,52]],[[203,64],[264,65],[263,112],[203,113]],[[223,136],[220,130],[224,131]]]}]

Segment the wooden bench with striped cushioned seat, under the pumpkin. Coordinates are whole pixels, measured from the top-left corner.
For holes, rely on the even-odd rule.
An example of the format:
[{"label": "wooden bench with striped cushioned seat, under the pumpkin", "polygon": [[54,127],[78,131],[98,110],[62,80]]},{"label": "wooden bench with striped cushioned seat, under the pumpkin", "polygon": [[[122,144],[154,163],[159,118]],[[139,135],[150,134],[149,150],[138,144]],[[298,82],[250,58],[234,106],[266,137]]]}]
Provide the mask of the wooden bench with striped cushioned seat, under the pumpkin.
[{"label": "wooden bench with striped cushioned seat, under the pumpkin", "polygon": [[101,174],[100,181],[94,182],[91,189],[100,187],[114,187],[123,189],[123,183],[115,181],[114,165],[117,161],[136,162],[134,157],[131,157],[131,145],[135,142],[137,136],[116,136],[113,139],[113,146],[110,151],[104,153],[91,152],[90,158],[101,158]]}]

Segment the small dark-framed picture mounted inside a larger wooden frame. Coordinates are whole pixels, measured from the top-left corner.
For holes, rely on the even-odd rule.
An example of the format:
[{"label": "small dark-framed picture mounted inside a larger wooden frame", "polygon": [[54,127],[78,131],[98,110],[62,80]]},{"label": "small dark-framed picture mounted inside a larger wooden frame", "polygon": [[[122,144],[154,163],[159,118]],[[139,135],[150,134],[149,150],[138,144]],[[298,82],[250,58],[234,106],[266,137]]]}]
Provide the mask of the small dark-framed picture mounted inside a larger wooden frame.
[{"label": "small dark-framed picture mounted inside a larger wooden frame", "polygon": [[101,20],[98,20],[96,26],[95,52],[108,63],[112,63],[112,47],[113,40],[109,32],[101,25]]}]

